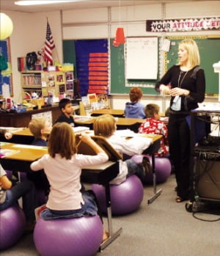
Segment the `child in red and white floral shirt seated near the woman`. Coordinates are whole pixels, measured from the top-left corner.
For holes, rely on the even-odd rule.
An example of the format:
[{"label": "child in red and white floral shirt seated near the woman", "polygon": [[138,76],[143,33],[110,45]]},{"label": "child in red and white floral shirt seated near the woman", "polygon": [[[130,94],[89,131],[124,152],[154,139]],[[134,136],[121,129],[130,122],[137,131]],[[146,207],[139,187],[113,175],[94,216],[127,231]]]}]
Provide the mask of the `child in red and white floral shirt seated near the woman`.
[{"label": "child in red and white floral shirt seated near the woman", "polygon": [[167,127],[164,122],[160,121],[159,106],[157,104],[147,104],[145,108],[145,114],[147,119],[140,125],[139,134],[161,134],[163,138],[161,139],[161,147],[155,156],[168,156],[168,132]]}]

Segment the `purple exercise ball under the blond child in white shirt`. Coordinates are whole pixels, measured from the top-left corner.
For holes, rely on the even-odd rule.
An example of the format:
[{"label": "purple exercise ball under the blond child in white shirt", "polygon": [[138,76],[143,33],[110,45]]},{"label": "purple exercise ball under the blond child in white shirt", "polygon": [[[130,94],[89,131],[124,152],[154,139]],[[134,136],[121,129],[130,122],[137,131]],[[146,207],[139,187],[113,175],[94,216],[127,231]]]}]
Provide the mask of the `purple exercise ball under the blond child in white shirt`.
[{"label": "purple exercise ball under the blond child in white shirt", "polygon": [[[102,185],[92,184],[100,211],[107,213],[106,189]],[[110,185],[111,213],[113,215],[125,215],[139,208],[144,197],[144,188],[141,180],[136,175],[131,175],[119,185]]]}]

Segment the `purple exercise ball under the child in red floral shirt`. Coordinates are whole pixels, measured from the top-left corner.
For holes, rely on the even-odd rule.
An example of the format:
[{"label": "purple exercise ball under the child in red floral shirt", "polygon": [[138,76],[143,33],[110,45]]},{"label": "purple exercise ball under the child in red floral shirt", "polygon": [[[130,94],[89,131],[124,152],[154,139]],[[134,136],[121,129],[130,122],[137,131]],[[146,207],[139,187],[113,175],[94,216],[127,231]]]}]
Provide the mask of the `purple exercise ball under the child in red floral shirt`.
[{"label": "purple exercise ball under the child in red floral shirt", "polygon": [[[136,164],[142,163],[142,158],[147,156],[150,159],[150,164],[152,165],[152,158],[148,155],[135,155],[132,156],[132,160],[136,162]],[[167,178],[169,178],[171,174],[172,166],[170,164],[169,158],[155,157],[155,176],[157,183],[164,183]],[[146,175],[144,180],[146,184],[153,184],[153,173],[149,172]]]}]

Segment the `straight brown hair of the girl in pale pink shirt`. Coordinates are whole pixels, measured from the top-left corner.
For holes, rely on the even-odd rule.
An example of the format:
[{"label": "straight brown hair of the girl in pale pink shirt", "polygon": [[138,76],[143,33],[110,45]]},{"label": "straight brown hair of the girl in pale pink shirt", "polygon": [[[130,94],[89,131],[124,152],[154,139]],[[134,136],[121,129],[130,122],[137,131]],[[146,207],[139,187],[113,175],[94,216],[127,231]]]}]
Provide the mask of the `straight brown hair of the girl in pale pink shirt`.
[{"label": "straight brown hair of the girl in pale pink shirt", "polygon": [[56,122],[48,140],[49,155],[54,158],[59,154],[62,158],[71,159],[76,152],[73,128],[67,122]]}]

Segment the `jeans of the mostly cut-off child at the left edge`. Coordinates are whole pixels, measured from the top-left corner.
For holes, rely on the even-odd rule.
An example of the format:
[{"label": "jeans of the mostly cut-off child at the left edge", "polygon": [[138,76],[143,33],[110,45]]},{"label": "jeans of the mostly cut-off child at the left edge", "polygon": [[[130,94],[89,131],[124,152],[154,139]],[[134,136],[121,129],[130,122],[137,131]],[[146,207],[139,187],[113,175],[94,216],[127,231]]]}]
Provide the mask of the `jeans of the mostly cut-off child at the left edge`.
[{"label": "jeans of the mostly cut-off child at the left edge", "polygon": [[6,200],[0,204],[0,211],[10,208],[15,205],[18,199],[22,197],[23,212],[27,221],[33,221],[35,197],[34,197],[34,184],[29,180],[23,180],[12,186],[11,189],[6,191]]}]

